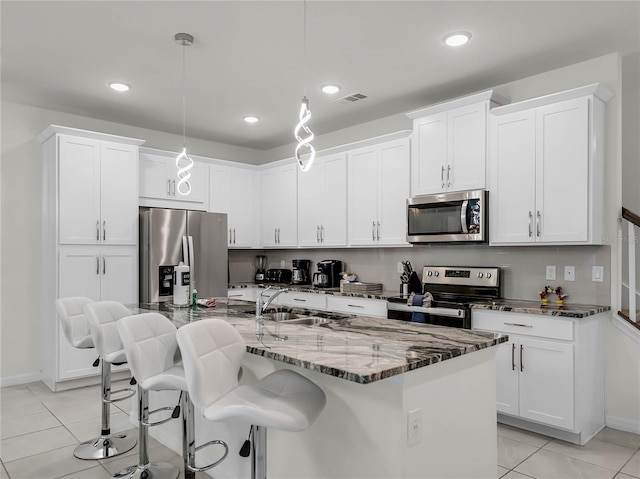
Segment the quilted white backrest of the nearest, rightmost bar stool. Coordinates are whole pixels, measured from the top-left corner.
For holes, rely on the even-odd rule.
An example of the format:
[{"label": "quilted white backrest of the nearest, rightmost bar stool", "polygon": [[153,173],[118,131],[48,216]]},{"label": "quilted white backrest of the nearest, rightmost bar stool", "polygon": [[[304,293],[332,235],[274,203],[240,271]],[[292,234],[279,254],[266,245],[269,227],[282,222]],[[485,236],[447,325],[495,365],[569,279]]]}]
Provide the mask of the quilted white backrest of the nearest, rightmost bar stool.
[{"label": "quilted white backrest of the nearest, rightmost bar stool", "polygon": [[182,326],[176,337],[193,404],[204,409],[238,386],[247,347],[231,324],[205,319]]}]

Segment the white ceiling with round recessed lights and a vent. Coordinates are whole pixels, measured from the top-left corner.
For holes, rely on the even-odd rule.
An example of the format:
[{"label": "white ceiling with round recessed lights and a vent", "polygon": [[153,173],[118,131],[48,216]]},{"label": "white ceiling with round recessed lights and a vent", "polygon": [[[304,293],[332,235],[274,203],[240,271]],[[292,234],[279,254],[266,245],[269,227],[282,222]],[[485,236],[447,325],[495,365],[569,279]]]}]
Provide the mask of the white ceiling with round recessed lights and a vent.
[{"label": "white ceiling with round recessed lights and a vent", "polygon": [[[256,149],[640,47],[632,1],[2,0],[2,99]],[[473,37],[458,49],[444,34]],[[132,85],[116,94],[110,80]],[[319,91],[327,82],[343,89]],[[361,92],[356,103],[334,101]],[[255,114],[262,121],[242,121]]]}]

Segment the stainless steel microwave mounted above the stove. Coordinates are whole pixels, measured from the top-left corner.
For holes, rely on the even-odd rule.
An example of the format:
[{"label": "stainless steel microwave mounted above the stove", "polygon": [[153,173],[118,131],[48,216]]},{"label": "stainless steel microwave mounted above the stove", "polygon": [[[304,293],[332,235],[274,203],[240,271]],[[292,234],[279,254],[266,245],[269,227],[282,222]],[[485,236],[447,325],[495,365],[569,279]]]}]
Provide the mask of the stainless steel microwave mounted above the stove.
[{"label": "stainless steel microwave mounted above the stove", "polygon": [[485,190],[414,196],[407,200],[409,243],[486,243],[488,192]]}]

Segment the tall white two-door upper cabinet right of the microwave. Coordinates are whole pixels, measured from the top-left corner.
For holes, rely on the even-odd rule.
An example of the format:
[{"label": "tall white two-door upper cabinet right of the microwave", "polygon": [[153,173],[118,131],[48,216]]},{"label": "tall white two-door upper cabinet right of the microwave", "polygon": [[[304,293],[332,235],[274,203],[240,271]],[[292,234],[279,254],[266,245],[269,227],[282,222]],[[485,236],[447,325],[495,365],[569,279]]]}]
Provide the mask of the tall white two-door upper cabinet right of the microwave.
[{"label": "tall white two-door upper cabinet right of the microwave", "polygon": [[599,85],[491,111],[491,244],[599,244],[604,105]]}]

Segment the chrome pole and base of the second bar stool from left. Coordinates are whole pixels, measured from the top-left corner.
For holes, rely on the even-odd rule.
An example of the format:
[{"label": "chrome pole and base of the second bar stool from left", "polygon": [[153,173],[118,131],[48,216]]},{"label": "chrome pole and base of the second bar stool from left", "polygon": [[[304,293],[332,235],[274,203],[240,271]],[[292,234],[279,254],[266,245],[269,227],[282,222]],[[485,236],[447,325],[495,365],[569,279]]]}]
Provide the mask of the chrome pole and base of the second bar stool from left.
[{"label": "chrome pole and base of the second bar stool from left", "polygon": [[[159,421],[163,424],[168,421]],[[121,479],[177,479],[180,470],[166,462],[149,462],[149,391],[138,384],[138,464],[115,473],[112,477]],[[152,424],[153,425],[153,424]],[[195,478],[194,478],[195,479]]]}]

